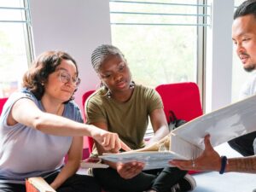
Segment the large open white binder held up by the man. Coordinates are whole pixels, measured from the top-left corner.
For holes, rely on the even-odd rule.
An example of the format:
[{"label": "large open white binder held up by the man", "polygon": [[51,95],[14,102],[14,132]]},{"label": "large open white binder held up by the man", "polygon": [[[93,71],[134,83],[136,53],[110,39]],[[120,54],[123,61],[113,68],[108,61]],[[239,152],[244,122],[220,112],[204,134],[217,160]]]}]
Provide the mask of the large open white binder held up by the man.
[{"label": "large open white binder held up by the man", "polygon": [[211,135],[212,147],[216,147],[252,131],[256,131],[256,96],[193,119],[146,148],[103,154],[100,158],[113,162],[137,160],[145,163],[144,169],[162,168],[170,166],[168,161],[172,159],[197,158],[204,149],[207,134]]}]

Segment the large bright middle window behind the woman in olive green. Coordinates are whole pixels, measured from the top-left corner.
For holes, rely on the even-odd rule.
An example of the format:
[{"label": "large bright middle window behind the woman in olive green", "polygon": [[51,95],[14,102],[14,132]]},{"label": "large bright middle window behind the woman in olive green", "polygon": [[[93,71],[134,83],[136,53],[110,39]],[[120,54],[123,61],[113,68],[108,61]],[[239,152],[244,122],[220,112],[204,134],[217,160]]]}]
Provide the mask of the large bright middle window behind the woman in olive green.
[{"label": "large bright middle window behind the woman in olive green", "polygon": [[112,44],[125,53],[135,82],[203,82],[207,7],[197,0],[110,0]]}]

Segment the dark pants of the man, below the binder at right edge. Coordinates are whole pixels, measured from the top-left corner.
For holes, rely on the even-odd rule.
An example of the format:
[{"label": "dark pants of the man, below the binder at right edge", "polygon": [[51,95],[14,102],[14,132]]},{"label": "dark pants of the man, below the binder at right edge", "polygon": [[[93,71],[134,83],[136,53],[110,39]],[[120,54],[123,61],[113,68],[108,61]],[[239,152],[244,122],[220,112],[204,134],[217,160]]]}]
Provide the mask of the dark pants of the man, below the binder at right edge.
[{"label": "dark pants of the man, below the binder at right edge", "polygon": [[248,133],[244,136],[237,137],[230,140],[228,143],[231,148],[234,148],[243,156],[250,156],[254,154],[253,141],[256,138],[256,131]]}]

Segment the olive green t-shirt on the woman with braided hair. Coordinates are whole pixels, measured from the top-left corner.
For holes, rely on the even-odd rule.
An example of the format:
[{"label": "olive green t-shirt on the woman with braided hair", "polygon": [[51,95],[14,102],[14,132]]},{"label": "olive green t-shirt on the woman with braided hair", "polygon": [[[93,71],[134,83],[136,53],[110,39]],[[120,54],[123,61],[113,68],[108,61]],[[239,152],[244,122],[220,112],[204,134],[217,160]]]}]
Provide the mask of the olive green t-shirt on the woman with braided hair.
[{"label": "olive green t-shirt on the woman with braided hair", "polygon": [[105,122],[108,131],[118,133],[130,148],[143,148],[148,115],[158,108],[163,108],[160,95],[143,85],[135,85],[128,102],[117,102],[106,96],[106,90],[97,90],[85,104],[86,123]]}]

